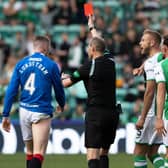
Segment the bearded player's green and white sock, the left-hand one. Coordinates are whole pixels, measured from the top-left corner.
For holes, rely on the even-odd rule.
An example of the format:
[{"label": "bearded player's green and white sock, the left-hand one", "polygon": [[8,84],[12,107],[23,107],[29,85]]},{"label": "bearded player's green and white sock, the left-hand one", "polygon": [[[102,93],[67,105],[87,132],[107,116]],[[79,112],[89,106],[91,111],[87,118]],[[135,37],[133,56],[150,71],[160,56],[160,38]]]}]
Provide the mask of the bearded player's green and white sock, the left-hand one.
[{"label": "bearded player's green and white sock, the left-hand one", "polygon": [[134,168],[147,168],[147,161],[145,156],[135,156]]}]

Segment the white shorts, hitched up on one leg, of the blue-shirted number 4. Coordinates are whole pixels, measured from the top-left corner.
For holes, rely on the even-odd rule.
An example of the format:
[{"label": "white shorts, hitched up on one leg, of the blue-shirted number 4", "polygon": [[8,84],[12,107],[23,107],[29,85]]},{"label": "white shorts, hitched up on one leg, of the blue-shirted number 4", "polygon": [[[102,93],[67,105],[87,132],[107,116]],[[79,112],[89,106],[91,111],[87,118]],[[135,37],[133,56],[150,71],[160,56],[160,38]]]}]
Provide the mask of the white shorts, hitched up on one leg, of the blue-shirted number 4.
[{"label": "white shorts, hitched up on one leg, of the blue-shirted number 4", "polygon": [[24,141],[32,139],[32,123],[38,123],[40,120],[51,118],[50,115],[32,112],[24,108],[19,109],[20,125]]}]

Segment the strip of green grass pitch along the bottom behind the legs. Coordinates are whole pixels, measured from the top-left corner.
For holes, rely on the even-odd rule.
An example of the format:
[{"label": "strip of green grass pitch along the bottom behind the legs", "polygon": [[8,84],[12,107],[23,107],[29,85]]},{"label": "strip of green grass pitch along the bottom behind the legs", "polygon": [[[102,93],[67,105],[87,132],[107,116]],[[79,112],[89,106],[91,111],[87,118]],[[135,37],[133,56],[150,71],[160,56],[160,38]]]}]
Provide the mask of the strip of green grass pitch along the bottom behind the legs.
[{"label": "strip of green grass pitch along the bottom behind the legs", "polygon": [[[110,168],[133,168],[133,155],[125,153],[110,155]],[[0,168],[25,168],[25,155],[0,154]],[[86,156],[79,155],[46,155],[43,168],[87,168]],[[149,167],[152,168],[149,163]]]}]

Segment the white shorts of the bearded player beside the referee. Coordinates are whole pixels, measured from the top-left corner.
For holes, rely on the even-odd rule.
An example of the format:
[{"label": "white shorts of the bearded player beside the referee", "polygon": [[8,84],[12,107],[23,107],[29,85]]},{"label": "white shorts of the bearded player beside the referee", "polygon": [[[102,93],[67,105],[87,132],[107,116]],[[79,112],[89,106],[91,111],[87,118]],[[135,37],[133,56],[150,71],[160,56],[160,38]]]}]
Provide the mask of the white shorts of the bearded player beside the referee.
[{"label": "white shorts of the bearded player beside the referee", "polygon": [[158,135],[155,130],[156,117],[147,117],[144,123],[144,127],[141,130],[137,130],[135,142],[138,144],[162,144],[163,138]]}]

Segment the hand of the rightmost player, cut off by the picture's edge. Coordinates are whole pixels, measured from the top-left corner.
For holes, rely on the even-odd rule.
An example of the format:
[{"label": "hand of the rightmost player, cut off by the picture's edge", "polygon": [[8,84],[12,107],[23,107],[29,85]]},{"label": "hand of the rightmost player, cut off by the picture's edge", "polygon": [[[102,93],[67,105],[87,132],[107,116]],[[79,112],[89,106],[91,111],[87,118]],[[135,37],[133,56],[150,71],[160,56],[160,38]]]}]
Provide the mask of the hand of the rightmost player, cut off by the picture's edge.
[{"label": "hand of the rightmost player, cut off by the picture's edge", "polygon": [[166,135],[167,131],[164,127],[163,119],[158,119],[158,118],[156,119],[155,129],[159,135],[163,135],[163,136]]}]

